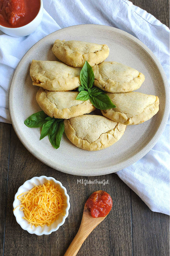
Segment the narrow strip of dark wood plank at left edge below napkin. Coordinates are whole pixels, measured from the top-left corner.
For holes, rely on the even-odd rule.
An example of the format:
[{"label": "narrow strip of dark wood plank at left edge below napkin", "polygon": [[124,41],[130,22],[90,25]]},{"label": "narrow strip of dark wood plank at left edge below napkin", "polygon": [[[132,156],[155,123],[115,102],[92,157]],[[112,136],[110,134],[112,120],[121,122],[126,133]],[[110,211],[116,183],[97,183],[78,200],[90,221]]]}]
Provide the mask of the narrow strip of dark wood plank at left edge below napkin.
[{"label": "narrow strip of dark wood plank at left edge below napkin", "polygon": [[7,208],[7,180],[10,129],[10,124],[0,123],[0,255],[3,255],[4,229]]}]

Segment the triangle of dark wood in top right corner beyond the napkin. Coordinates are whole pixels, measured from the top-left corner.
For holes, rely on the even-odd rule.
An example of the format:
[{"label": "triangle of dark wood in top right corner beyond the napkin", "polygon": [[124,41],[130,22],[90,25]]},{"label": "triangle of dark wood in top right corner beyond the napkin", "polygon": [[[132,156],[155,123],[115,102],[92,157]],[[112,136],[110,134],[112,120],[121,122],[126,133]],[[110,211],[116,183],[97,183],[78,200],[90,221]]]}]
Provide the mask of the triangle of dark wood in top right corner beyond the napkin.
[{"label": "triangle of dark wood in top right corner beyond the napkin", "polygon": [[131,0],[131,2],[169,27],[169,0]]}]

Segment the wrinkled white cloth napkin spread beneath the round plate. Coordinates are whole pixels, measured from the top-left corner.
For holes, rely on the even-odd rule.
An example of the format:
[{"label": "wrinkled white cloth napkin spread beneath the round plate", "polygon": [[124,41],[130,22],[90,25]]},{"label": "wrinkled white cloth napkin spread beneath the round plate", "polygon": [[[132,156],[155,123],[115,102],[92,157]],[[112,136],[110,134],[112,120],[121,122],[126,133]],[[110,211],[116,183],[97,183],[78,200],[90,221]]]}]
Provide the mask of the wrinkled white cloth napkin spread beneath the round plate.
[{"label": "wrinkled white cloth napkin spread beneath the round plate", "polygon": [[[67,26],[103,24],[120,28],[141,40],[161,62],[169,78],[169,29],[127,0],[43,0],[44,15],[26,37],[0,36],[0,121],[10,123],[8,89],[20,59],[44,36]],[[19,50],[18,50],[19,49]],[[169,214],[169,124],[158,143],[141,160],[117,172],[148,207]]]}]

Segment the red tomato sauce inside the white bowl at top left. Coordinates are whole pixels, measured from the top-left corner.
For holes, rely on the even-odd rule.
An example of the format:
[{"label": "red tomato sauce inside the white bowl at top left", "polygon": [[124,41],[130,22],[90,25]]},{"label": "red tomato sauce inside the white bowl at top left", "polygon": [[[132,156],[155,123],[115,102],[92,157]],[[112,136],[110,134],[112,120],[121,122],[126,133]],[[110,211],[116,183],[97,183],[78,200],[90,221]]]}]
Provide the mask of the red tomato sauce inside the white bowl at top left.
[{"label": "red tomato sauce inside the white bowl at top left", "polygon": [[0,25],[22,27],[33,20],[40,9],[40,0],[0,0]]}]

